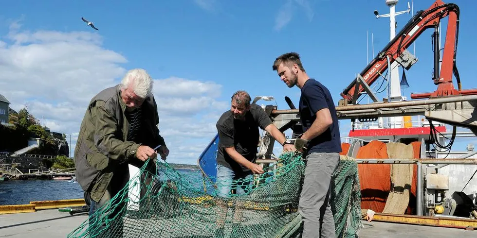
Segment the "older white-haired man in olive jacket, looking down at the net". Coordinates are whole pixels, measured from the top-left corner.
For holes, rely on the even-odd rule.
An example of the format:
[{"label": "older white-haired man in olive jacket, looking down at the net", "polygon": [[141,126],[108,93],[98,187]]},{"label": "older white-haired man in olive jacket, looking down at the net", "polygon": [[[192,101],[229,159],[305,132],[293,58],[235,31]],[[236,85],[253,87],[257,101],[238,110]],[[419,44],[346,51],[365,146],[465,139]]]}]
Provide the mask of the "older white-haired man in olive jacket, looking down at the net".
[{"label": "older white-haired man in olive jacket, looking down at the net", "polygon": [[[102,90],[88,104],[74,150],[74,164],[76,178],[91,198],[91,231],[102,230],[97,226],[104,224],[94,221],[94,212],[125,187],[129,180],[128,164],[140,168],[157,153],[164,160],[169,153],[159,135],[152,86],[146,70],[132,69],[121,84]],[[152,149],[159,145],[157,152]],[[112,218],[120,212],[124,199],[119,196],[117,201],[111,201],[119,206],[105,211],[105,216]]]}]

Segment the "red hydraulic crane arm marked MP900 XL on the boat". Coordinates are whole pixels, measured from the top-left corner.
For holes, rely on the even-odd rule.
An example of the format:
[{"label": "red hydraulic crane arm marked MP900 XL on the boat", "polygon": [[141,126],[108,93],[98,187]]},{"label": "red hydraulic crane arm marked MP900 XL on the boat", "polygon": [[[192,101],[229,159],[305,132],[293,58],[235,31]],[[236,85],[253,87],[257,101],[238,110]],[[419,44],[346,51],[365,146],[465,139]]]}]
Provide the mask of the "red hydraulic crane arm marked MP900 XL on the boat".
[{"label": "red hydraulic crane arm marked MP900 XL on the boat", "polygon": [[[444,44],[444,52],[442,54],[442,64],[439,71],[439,24],[444,17],[449,17],[447,31]],[[361,72],[361,76],[367,85],[374,83],[380,75],[394,61],[398,61],[405,69],[409,69],[416,61],[415,57],[406,51],[425,30],[434,28],[434,73],[433,81],[438,85],[437,90],[428,93],[412,93],[411,99],[423,99],[434,97],[445,97],[450,95],[475,95],[477,89],[462,90],[460,85],[459,71],[456,66],[457,43],[459,39],[459,7],[454,3],[444,3],[436,0],[429,9],[419,11],[412,17],[404,28],[396,34],[396,37],[390,41],[385,48],[378,53],[376,58]],[[388,62],[389,58],[389,62]],[[455,89],[452,83],[452,74],[456,76],[459,89]],[[352,103],[353,99],[359,98],[360,93],[365,89],[356,84],[357,78],[346,87],[340,94],[348,103]],[[358,86],[357,95],[355,87]]]}]

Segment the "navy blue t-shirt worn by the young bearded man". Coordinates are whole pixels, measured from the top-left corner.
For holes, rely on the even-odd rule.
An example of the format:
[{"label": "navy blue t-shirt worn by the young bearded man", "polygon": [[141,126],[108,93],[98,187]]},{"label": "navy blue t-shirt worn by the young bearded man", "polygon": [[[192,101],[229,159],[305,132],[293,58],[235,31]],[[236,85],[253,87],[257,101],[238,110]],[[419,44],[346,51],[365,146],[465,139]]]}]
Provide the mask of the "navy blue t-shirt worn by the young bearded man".
[{"label": "navy blue t-shirt worn by the young bearded man", "polygon": [[307,147],[308,153],[340,153],[340,129],[330,91],[318,81],[308,79],[301,89],[298,107],[303,131],[307,131],[312,126],[313,121],[316,119],[316,112],[323,108],[330,110],[333,123],[321,135],[316,136],[310,141]]}]

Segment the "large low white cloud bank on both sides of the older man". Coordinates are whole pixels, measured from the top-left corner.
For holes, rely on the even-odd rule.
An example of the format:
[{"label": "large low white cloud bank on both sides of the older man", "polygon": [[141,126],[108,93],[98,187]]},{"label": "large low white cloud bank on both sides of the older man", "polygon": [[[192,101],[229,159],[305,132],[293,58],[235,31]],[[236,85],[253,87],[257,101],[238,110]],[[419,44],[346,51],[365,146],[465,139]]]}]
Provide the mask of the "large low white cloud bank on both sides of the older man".
[{"label": "large low white cloud bank on both sides of the older man", "polygon": [[[9,29],[0,41],[0,93],[14,110],[26,105],[42,125],[71,134],[73,152],[88,102],[119,83],[126,56],[106,49],[97,33],[22,31],[20,21]],[[221,85],[179,77],[154,82],[168,161],[196,164],[229,106],[217,101]]]}]

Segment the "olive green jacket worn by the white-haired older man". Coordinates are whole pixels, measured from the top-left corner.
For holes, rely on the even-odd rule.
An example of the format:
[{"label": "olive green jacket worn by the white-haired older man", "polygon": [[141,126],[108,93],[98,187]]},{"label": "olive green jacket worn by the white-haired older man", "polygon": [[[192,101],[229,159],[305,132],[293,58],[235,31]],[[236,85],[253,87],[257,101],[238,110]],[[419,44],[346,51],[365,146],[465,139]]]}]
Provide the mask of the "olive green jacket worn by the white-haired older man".
[{"label": "olive green jacket worn by the white-haired older man", "polygon": [[144,165],[136,157],[140,145],[151,148],[165,145],[164,138],[159,135],[157,104],[152,95],[142,104],[142,131],[135,142],[126,140],[129,122],[125,110],[120,85],[116,85],[94,96],[81,122],[74,149],[75,175],[83,190],[96,202],[105,193],[113,175],[115,180],[119,176],[118,181],[124,181],[129,176],[124,173],[128,171],[128,164],[139,168]]}]

